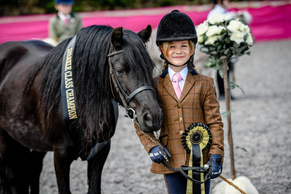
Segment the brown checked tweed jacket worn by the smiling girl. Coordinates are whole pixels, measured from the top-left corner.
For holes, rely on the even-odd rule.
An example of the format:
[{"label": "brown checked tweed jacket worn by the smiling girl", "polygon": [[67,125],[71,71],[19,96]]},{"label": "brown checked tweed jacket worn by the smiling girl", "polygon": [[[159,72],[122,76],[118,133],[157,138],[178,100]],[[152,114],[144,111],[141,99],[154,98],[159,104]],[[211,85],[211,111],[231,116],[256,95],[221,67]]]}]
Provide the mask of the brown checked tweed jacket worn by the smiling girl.
[{"label": "brown checked tweed jacket worn by the smiling girl", "polygon": [[[168,165],[173,168],[182,164],[189,165],[190,153],[186,153],[183,148],[179,132],[195,122],[206,124],[212,134],[212,144],[203,152],[203,164],[209,161],[210,154],[220,154],[223,160],[224,131],[213,79],[196,73],[194,69],[188,72],[180,99],[175,93],[167,69],[161,77],[156,78],[156,82],[163,109],[163,123],[159,141],[153,133],[148,134],[169,151],[171,158]],[[141,143],[149,153],[156,144],[147,138],[137,125],[135,128]],[[150,171],[156,174],[174,172],[155,162],[152,163]]]}]

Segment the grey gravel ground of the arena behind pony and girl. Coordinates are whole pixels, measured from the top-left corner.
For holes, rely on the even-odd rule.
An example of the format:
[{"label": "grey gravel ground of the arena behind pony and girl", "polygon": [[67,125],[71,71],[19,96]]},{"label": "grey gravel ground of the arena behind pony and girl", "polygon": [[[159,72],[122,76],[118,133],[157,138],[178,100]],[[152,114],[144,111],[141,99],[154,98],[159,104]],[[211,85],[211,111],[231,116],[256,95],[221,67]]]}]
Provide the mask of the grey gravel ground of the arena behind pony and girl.
[{"label": "grey gravel ground of the arena behind pony and girl", "polygon": [[[260,194],[291,193],[291,41],[257,43],[251,56],[236,64],[239,89],[232,90],[232,129],[236,175],[250,178]],[[221,113],[226,112],[220,100]],[[132,123],[120,110],[112,146],[102,173],[103,194],[166,194],[162,175],[149,172],[151,160]],[[222,175],[230,178],[229,147],[225,123],[225,159]],[[247,150],[244,151],[243,149]],[[87,192],[87,162],[71,165],[73,194]],[[211,180],[211,189],[221,179]],[[57,194],[53,154],[44,159],[41,194]],[[210,192],[211,193],[211,192]]]}]

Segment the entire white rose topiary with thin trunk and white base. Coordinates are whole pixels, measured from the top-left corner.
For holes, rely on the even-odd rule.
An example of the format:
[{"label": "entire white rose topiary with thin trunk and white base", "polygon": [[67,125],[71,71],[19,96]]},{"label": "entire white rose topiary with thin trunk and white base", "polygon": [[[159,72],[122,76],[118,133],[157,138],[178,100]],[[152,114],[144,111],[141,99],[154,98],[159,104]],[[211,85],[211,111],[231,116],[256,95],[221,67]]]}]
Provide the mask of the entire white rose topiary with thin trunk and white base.
[{"label": "entire white rose topiary with thin trunk and white base", "polygon": [[[230,84],[227,78],[227,63],[229,60],[233,56],[238,57],[243,54],[250,54],[250,52],[247,52],[249,47],[253,45],[250,28],[241,20],[236,20],[226,15],[215,15],[210,16],[202,24],[197,26],[197,36],[198,49],[201,52],[210,54],[209,61],[206,62],[204,66],[218,70],[220,76],[223,77],[226,98],[230,167],[232,182],[234,184],[231,183],[231,185],[228,185],[229,181],[226,181],[226,178],[221,176],[224,182],[218,183],[214,187],[212,194],[237,194],[237,192],[259,194],[248,178],[243,176],[236,178],[231,129]],[[231,88],[235,86],[237,85],[232,83]],[[238,185],[240,189],[238,189],[236,185]]]}]

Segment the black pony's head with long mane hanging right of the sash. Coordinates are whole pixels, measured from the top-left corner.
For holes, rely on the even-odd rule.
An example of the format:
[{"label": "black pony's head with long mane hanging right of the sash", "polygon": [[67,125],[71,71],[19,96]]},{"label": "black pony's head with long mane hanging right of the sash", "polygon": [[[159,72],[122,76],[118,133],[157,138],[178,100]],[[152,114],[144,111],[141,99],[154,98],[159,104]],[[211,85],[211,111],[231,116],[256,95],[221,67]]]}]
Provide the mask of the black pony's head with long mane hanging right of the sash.
[{"label": "black pony's head with long mane hanging right of the sash", "polygon": [[[155,88],[152,78],[154,63],[145,46],[150,34],[151,26],[139,33],[108,26],[89,26],[78,32],[73,53],[73,80],[79,114],[77,125],[84,142],[108,138],[107,130],[114,122],[113,94],[122,105],[114,85],[113,94],[111,90],[109,51],[123,50],[110,58],[116,79],[127,95],[141,86]],[[142,131],[160,129],[162,109],[153,91],[138,93],[128,105],[136,111]]]}]

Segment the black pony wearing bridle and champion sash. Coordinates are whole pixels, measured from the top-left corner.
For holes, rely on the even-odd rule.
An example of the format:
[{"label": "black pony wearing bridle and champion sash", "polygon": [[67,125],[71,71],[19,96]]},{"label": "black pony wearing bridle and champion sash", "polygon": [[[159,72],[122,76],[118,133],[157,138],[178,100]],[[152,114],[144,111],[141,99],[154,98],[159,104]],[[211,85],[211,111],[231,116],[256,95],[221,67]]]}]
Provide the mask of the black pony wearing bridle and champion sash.
[{"label": "black pony wearing bridle and champion sash", "polygon": [[[0,45],[0,190],[3,193],[39,193],[39,175],[47,151],[54,151],[59,194],[70,194],[70,164],[86,156],[97,142],[114,133],[113,94],[107,54],[121,88],[128,95],[152,86],[151,61],[145,42],[150,25],[138,34],[108,26],[90,26],[77,34],[73,51],[73,81],[78,119],[67,130],[61,101],[61,69],[71,39],[57,47],[41,41]],[[112,45],[112,46],[111,46]],[[121,99],[113,87],[116,101]],[[129,102],[144,132],[160,129],[162,109],[155,93],[144,90]],[[110,142],[88,160],[90,194],[100,193],[101,171]]]}]

